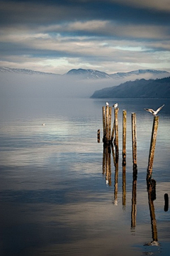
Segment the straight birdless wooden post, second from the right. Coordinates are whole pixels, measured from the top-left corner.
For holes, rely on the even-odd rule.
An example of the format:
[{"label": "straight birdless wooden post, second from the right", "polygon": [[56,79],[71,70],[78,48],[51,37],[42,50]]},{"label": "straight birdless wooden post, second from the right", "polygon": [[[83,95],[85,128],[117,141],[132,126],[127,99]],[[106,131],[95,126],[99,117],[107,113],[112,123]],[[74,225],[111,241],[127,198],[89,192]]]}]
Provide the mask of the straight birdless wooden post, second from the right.
[{"label": "straight birdless wooden post, second from the right", "polygon": [[132,161],[137,166],[137,132],[136,132],[136,114],[132,113]]}]

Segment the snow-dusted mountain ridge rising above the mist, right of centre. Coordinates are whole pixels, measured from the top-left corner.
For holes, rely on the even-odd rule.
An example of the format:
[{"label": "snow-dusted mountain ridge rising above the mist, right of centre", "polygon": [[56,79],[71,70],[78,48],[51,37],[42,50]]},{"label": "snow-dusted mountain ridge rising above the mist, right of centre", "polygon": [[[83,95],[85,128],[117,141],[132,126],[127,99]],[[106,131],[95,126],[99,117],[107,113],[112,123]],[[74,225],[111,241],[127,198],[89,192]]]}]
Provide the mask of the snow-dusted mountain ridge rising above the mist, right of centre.
[{"label": "snow-dusted mountain ridge rising above the mist, right of centre", "polygon": [[[103,78],[110,78],[110,79],[120,79],[120,78],[128,78],[130,76],[139,77],[142,75],[149,75],[152,76],[152,78],[160,78],[160,76],[167,77],[170,75],[169,72],[164,70],[134,70],[127,73],[115,73],[108,75],[105,72],[101,72],[98,70],[91,70],[91,69],[72,69],[69,70],[64,75],[68,76],[74,76],[81,79],[103,79]],[[141,77],[142,78],[142,77]]]}]

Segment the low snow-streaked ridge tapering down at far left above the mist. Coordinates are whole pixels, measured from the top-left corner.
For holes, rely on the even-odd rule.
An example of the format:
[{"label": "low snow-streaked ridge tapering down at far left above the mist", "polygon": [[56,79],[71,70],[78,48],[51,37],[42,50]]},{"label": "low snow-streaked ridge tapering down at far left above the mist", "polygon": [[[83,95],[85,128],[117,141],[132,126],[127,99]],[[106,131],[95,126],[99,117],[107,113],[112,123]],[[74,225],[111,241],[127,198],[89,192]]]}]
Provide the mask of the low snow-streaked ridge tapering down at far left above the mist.
[{"label": "low snow-streaked ridge tapering down at far left above the mist", "polygon": [[0,67],[1,73],[19,73],[19,74],[27,74],[27,75],[57,75],[54,73],[45,73],[40,71],[28,70],[24,68],[6,68]]}]

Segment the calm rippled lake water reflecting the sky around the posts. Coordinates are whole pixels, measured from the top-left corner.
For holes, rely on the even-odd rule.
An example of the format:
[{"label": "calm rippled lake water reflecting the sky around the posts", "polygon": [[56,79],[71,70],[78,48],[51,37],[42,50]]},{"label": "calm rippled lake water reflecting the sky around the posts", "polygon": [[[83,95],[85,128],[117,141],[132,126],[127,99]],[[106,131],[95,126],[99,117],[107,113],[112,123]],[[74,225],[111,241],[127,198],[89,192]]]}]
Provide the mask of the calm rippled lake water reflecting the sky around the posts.
[{"label": "calm rippled lake water reflecting the sky around the posts", "polygon": [[[169,100],[119,103],[119,162],[103,174],[97,143],[106,100],[34,99],[0,103],[1,255],[169,255]],[[153,240],[146,174],[153,117],[159,114],[153,176],[159,246]],[[123,186],[122,111],[127,110],[127,165]],[[131,112],[137,114],[136,218],[132,225]],[[42,126],[45,123],[45,126]],[[118,181],[118,183],[117,183]],[[115,189],[116,188],[116,189]],[[155,235],[155,231],[154,231]]]}]

